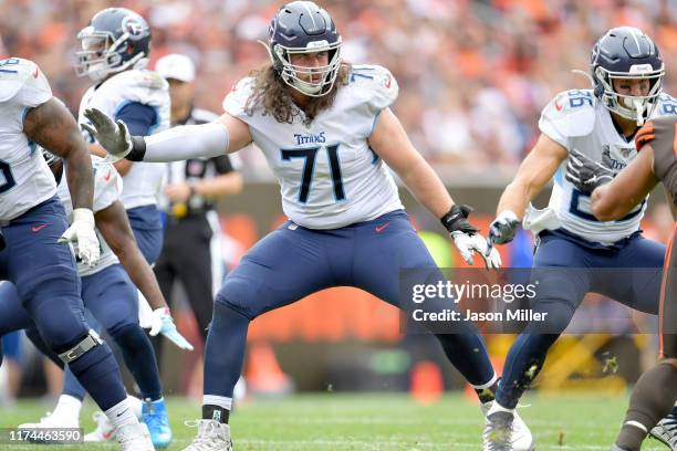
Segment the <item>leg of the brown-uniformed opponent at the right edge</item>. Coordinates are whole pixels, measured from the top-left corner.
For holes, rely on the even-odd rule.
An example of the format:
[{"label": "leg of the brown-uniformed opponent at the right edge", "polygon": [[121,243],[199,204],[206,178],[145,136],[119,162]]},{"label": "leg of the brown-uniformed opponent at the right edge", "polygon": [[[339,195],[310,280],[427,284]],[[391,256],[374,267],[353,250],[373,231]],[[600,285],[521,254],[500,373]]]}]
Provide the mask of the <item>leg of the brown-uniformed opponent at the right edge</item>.
[{"label": "leg of the brown-uniformed opponent at the right edge", "polygon": [[[677,229],[676,233],[677,233]],[[660,289],[660,356],[664,358],[646,371],[633,389],[616,447],[638,451],[647,433],[677,449],[677,420],[673,416],[677,401],[677,240],[675,233],[665,255]],[[662,420],[663,419],[663,420]]]}]

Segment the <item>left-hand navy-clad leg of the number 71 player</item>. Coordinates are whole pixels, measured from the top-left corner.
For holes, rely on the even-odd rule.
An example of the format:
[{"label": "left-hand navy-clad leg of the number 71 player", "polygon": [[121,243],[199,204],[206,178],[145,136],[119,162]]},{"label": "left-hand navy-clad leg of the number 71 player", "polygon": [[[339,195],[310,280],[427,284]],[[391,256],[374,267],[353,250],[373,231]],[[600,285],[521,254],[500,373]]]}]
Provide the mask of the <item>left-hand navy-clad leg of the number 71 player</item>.
[{"label": "left-hand navy-clad leg of the number 71 player", "polygon": [[250,321],[334,285],[322,231],[287,222],[259,241],[216,296],[205,347],[205,398],[198,438],[226,447],[233,388],[242,371]]}]

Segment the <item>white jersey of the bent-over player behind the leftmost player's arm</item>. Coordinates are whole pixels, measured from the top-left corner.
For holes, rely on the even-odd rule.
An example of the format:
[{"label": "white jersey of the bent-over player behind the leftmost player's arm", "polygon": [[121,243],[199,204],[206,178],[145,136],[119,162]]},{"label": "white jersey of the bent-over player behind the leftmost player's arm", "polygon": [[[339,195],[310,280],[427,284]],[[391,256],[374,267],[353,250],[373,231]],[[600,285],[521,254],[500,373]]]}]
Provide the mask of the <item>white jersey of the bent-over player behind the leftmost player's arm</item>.
[{"label": "white jersey of the bent-over player behind the leftmost player's arm", "polygon": [[[123,179],[112,162],[95,155],[92,155],[92,170],[94,171],[93,211],[96,213],[97,211],[111,207],[113,202],[119,199],[119,195],[123,191]],[[59,183],[58,193],[59,199],[63,203],[66,214],[69,216],[69,222],[71,222],[73,220],[73,202],[71,201],[71,191],[69,191],[65,174]],[[98,244],[101,247],[101,258],[98,259],[98,263],[95,266],[90,268],[77,260],[77,274],[80,276],[92,275],[105,268],[111,266],[112,264],[119,263],[119,260],[117,260],[115,253],[111,250],[108,244],[106,244],[106,241],[103,239],[98,230],[96,230],[96,237],[98,238]],[[77,252],[75,252],[75,255],[77,255]]]}]

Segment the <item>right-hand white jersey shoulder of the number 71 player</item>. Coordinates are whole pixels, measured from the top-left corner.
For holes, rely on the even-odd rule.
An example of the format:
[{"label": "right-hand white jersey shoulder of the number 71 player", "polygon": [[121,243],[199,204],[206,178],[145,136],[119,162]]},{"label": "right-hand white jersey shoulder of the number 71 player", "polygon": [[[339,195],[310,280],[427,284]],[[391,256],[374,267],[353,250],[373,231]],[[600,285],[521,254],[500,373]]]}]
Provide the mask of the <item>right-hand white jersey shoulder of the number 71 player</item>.
[{"label": "right-hand white jersey shoulder of the number 71 player", "polygon": [[390,71],[376,64],[355,64],[348,74],[351,88],[360,90],[376,111],[389,106],[397,98],[399,86]]}]

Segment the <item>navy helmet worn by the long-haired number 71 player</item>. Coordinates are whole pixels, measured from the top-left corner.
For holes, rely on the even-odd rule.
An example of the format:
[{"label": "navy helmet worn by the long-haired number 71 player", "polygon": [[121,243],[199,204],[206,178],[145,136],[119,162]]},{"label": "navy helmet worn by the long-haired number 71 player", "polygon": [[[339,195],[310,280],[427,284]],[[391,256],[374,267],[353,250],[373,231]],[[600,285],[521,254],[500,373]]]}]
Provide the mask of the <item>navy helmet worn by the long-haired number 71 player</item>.
[{"label": "navy helmet worn by the long-haired number 71 player", "polygon": [[[332,90],[341,67],[341,34],[324,9],[312,1],[287,3],[273,18],[269,34],[270,57],[284,83],[313,97]],[[329,64],[305,67],[291,63],[292,54],[314,52],[327,52]]]}]

